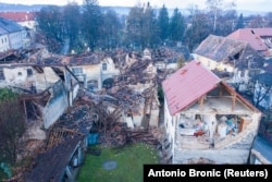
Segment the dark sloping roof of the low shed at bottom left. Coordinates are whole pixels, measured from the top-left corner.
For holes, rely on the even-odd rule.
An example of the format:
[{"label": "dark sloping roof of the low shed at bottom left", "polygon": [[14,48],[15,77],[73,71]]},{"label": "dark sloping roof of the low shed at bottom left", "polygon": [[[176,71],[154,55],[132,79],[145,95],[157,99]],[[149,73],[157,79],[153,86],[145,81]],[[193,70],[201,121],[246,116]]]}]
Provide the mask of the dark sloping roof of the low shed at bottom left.
[{"label": "dark sloping roof of the low shed at bottom left", "polygon": [[26,174],[28,182],[61,181],[69,165],[71,157],[78,143],[83,139],[82,135],[75,135],[63,141],[50,150],[37,156],[37,163],[30,173]]}]

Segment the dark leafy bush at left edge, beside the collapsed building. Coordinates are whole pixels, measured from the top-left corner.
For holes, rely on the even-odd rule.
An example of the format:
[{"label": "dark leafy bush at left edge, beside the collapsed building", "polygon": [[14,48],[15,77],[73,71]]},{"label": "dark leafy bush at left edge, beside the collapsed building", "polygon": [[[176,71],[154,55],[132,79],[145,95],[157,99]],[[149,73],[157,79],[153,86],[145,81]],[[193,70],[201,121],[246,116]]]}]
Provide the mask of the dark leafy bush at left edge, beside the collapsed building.
[{"label": "dark leafy bush at left edge, beside the collapsed building", "polygon": [[13,165],[25,132],[25,117],[18,95],[9,88],[0,88],[0,161]]}]

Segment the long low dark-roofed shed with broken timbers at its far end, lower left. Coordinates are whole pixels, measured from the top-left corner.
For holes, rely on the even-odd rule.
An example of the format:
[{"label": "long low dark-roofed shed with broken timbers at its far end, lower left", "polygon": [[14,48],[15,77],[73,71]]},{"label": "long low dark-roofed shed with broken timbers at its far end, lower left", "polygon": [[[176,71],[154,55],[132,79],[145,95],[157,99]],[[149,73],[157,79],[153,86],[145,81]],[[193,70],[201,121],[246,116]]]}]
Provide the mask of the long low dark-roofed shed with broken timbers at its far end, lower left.
[{"label": "long low dark-roofed shed with broken timbers at its far end, lower left", "polygon": [[45,145],[35,155],[24,181],[75,181],[87,145],[90,145],[90,136],[94,136],[90,131],[99,118],[97,108],[91,102],[78,99],[50,125]]}]

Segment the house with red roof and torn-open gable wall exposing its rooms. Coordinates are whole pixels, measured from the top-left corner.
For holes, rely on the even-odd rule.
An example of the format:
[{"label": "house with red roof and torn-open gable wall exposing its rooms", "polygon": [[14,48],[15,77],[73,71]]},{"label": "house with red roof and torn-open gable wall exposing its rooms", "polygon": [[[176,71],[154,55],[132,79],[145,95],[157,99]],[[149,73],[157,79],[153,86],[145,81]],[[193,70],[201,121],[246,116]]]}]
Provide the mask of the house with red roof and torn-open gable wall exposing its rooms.
[{"label": "house with red roof and torn-open gable wall exposing its rooms", "polygon": [[162,87],[173,163],[247,162],[261,117],[258,109],[195,60],[170,75]]}]

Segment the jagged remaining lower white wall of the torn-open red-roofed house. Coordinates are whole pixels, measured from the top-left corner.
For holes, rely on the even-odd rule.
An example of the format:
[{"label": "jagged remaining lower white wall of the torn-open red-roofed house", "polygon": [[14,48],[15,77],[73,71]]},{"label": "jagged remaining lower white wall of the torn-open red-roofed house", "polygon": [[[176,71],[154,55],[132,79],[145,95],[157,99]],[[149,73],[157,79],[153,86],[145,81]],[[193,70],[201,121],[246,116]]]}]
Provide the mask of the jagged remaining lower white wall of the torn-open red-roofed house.
[{"label": "jagged remaining lower white wall of the torn-open red-roofed house", "polygon": [[[206,119],[213,117],[205,116]],[[207,158],[217,163],[246,163],[249,157],[250,147],[257,135],[261,113],[255,112],[250,118],[251,122],[235,136],[227,135],[225,139],[215,143],[214,149],[184,149],[176,147],[174,149],[174,163],[186,163],[189,159]]]}]

